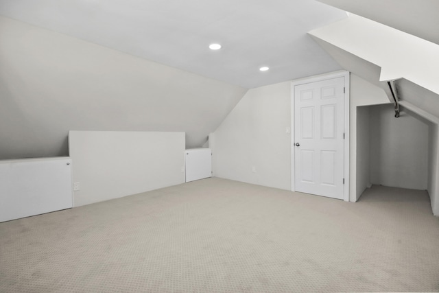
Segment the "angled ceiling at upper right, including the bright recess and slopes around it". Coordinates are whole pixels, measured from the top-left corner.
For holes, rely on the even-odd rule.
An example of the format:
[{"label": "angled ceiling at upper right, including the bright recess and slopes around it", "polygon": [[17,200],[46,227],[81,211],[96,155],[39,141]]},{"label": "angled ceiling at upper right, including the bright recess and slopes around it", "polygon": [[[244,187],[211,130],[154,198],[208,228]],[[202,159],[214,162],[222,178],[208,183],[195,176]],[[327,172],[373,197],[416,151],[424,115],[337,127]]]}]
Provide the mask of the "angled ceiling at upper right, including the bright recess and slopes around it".
[{"label": "angled ceiling at upper right, including the bright recess and slopes around it", "polygon": [[325,51],[388,95],[397,80],[403,101],[439,117],[439,1],[319,1],[361,15],[309,32]]}]

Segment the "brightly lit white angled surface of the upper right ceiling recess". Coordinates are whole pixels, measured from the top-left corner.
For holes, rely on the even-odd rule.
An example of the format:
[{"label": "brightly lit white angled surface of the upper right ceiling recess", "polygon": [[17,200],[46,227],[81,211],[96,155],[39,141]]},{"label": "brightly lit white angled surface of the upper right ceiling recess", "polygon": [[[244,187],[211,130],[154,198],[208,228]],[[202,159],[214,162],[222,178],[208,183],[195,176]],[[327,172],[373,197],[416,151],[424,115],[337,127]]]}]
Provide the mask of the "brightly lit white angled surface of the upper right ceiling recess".
[{"label": "brightly lit white angled surface of the upper right ceiling recess", "polygon": [[380,80],[405,78],[439,93],[439,45],[435,43],[357,15],[309,34],[381,67]]}]

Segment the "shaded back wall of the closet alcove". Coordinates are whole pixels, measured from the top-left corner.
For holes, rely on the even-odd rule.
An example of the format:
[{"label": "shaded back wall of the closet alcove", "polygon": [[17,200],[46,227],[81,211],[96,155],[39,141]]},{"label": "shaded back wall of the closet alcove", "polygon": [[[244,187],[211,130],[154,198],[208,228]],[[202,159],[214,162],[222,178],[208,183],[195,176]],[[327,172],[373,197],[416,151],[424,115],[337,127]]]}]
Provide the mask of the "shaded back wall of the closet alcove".
[{"label": "shaded back wall of the closet alcove", "polygon": [[392,105],[370,107],[370,180],[372,184],[427,189],[429,129]]}]

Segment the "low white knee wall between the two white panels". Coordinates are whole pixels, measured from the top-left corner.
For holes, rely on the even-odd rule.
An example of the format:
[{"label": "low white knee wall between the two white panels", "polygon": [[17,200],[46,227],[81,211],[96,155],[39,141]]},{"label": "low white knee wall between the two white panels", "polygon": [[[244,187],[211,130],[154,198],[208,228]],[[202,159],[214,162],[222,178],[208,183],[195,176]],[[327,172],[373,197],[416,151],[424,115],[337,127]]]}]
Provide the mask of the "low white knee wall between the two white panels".
[{"label": "low white knee wall between the two white panels", "polygon": [[185,132],[71,131],[74,207],[185,182]]}]

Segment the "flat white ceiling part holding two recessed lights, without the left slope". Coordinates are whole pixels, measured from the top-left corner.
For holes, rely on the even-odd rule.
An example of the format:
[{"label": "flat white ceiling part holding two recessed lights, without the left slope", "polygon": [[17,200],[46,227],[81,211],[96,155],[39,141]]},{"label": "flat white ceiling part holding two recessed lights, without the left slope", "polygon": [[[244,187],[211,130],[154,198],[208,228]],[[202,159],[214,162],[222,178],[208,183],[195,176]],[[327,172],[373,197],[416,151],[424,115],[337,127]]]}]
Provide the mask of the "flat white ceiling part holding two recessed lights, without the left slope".
[{"label": "flat white ceiling part holding two recessed lights, without the left slope", "polygon": [[245,88],[341,69],[306,33],[346,18],[315,0],[0,0],[0,14]]}]

